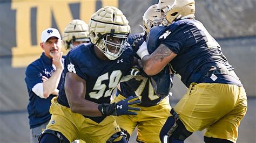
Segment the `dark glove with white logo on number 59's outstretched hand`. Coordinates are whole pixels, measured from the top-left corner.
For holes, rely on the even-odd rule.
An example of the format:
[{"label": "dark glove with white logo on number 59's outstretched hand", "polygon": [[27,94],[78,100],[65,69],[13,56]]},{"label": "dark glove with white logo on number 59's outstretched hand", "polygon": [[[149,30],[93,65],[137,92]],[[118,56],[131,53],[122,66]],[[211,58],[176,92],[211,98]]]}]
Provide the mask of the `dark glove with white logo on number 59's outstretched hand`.
[{"label": "dark glove with white logo on number 59's outstretched hand", "polygon": [[98,109],[102,113],[102,116],[137,115],[136,112],[132,111],[139,111],[140,108],[132,108],[130,105],[136,105],[139,103],[141,103],[139,97],[130,96],[118,103],[99,104]]}]

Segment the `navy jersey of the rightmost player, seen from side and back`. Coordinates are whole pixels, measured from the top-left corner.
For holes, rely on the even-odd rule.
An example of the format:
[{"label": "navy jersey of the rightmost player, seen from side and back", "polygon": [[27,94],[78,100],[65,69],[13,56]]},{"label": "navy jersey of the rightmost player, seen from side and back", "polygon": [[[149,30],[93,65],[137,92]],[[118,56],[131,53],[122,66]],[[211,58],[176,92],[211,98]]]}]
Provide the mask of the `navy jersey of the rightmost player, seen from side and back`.
[{"label": "navy jersey of the rightmost player, seen from side and back", "polygon": [[[169,65],[174,73],[181,76],[181,81],[186,87],[192,82],[200,83],[211,68],[233,70],[221,52],[218,42],[197,20],[184,19],[170,26],[154,26],[147,39],[149,53],[160,44],[164,44],[177,54]],[[215,82],[238,84],[240,82],[231,77],[232,80],[233,82],[228,80]]]}]

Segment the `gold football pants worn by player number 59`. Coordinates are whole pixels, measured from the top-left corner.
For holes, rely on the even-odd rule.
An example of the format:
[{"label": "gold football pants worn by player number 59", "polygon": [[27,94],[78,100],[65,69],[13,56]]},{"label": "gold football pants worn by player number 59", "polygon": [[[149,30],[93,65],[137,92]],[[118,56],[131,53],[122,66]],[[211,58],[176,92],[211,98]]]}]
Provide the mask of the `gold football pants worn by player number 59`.
[{"label": "gold football pants worn by player number 59", "polygon": [[[47,129],[59,131],[71,142],[82,139],[86,142],[106,142],[116,132],[120,131],[113,116],[107,116],[100,123],[73,113],[70,108],[58,104],[57,97],[51,101],[51,120]],[[120,140],[119,137],[117,140]]]}]

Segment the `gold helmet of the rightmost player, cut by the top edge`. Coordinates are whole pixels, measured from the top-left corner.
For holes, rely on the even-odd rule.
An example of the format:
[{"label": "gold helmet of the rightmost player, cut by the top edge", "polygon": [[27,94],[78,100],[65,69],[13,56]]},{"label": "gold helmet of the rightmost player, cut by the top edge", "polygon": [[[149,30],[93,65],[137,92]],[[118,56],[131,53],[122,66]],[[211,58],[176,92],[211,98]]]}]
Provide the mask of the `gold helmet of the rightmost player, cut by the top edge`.
[{"label": "gold helmet of the rightmost player, cut by the top edge", "polygon": [[156,10],[164,13],[161,21],[166,26],[177,19],[193,19],[195,2],[194,0],[159,0]]}]

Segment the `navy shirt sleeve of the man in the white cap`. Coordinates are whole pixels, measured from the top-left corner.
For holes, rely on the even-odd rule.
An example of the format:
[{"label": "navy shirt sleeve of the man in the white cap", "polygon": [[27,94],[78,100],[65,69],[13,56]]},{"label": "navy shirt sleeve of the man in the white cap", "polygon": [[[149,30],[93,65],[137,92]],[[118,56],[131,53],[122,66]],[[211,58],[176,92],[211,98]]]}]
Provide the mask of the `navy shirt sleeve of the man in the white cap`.
[{"label": "navy shirt sleeve of the man in the white cap", "polygon": [[42,73],[40,69],[36,68],[34,65],[29,65],[26,68],[25,82],[28,89],[32,89],[37,83],[42,83]]}]

